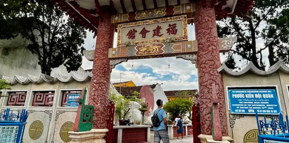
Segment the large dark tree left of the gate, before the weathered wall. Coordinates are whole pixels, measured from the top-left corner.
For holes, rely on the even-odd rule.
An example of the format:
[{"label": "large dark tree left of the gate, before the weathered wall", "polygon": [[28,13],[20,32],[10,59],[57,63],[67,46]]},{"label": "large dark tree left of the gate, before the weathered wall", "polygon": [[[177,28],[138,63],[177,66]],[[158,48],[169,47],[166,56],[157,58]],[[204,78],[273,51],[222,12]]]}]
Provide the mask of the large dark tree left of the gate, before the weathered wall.
[{"label": "large dark tree left of the gate, before the weathered wall", "polygon": [[[68,72],[78,70],[82,64],[83,50],[85,50],[82,46],[86,38],[84,29],[72,18],[65,16],[65,13],[50,0],[23,1],[22,5],[25,4],[25,6],[20,9],[17,2],[20,1],[4,0],[1,2],[9,6],[4,13],[6,19],[2,18],[2,20],[7,21],[6,23],[14,22],[15,24],[11,24],[14,26],[19,25],[16,32],[30,41],[27,48],[33,54],[38,55],[41,72],[50,75],[52,68],[62,64]],[[14,11],[16,13],[13,13]],[[7,14],[13,16],[7,19],[9,17]],[[7,27],[13,27],[11,25]],[[10,29],[4,29],[4,35],[0,35],[0,38],[15,37],[16,32],[9,33]]]}]

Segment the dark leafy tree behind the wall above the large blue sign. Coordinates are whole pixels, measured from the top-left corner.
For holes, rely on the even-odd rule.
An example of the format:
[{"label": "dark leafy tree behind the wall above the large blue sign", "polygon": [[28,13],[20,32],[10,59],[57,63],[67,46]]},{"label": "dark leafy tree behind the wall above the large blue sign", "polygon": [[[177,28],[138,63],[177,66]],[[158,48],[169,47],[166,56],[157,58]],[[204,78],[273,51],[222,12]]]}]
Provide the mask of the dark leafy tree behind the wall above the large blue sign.
[{"label": "dark leafy tree behind the wall above the large blue sign", "polygon": [[[247,63],[252,61],[258,69],[265,70],[263,50],[269,50],[270,66],[278,60],[289,64],[288,10],[285,9],[288,8],[288,5],[289,1],[287,0],[255,1],[254,8],[250,13],[253,19],[233,16],[218,22],[219,37],[238,37],[236,49],[231,49],[224,62],[227,67],[240,69],[234,60],[234,55],[237,54],[241,57],[239,61],[245,60]],[[286,37],[287,40],[285,40]],[[263,38],[264,48],[257,45],[258,38]]]}]

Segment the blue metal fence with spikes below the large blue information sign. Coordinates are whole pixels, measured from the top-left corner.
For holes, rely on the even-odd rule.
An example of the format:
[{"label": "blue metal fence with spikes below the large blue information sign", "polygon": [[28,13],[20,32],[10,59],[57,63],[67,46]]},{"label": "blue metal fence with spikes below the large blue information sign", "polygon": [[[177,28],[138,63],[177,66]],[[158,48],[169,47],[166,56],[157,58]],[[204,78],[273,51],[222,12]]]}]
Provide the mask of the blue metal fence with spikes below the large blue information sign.
[{"label": "blue metal fence with spikes below the large blue information sign", "polygon": [[283,120],[283,115],[279,114],[279,121],[274,120],[273,115],[269,120],[266,119],[264,115],[264,120],[259,120],[258,114],[256,114],[259,143],[283,143],[289,142],[289,121],[288,116],[285,116],[285,121]]}]

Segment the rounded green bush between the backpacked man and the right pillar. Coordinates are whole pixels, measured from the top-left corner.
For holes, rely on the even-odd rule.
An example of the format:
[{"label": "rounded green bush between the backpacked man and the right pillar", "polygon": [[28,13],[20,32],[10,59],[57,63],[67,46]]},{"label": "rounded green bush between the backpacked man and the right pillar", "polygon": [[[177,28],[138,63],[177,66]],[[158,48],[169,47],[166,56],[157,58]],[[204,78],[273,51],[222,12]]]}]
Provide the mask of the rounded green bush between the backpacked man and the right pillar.
[{"label": "rounded green bush between the backpacked man and the right pillar", "polygon": [[171,120],[174,121],[179,114],[181,114],[181,116],[185,116],[188,112],[191,112],[192,106],[193,104],[190,100],[177,98],[175,100],[169,100],[163,106],[163,109],[172,115]]}]

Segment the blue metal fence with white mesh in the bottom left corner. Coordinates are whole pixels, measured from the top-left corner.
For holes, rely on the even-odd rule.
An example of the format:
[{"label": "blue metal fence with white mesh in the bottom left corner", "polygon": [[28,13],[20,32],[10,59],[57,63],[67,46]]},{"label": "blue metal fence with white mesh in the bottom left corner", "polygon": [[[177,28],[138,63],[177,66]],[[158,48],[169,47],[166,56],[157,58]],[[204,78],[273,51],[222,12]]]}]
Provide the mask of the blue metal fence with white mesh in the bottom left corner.
[{"label": "blue metal fence with white mesh in the bottom left corner", "polygon": [[10,108],[0,113],[0,142],[20,143],[22,142],[23,131],[27,120],[27,111],[18,110],[16,113]]}]

